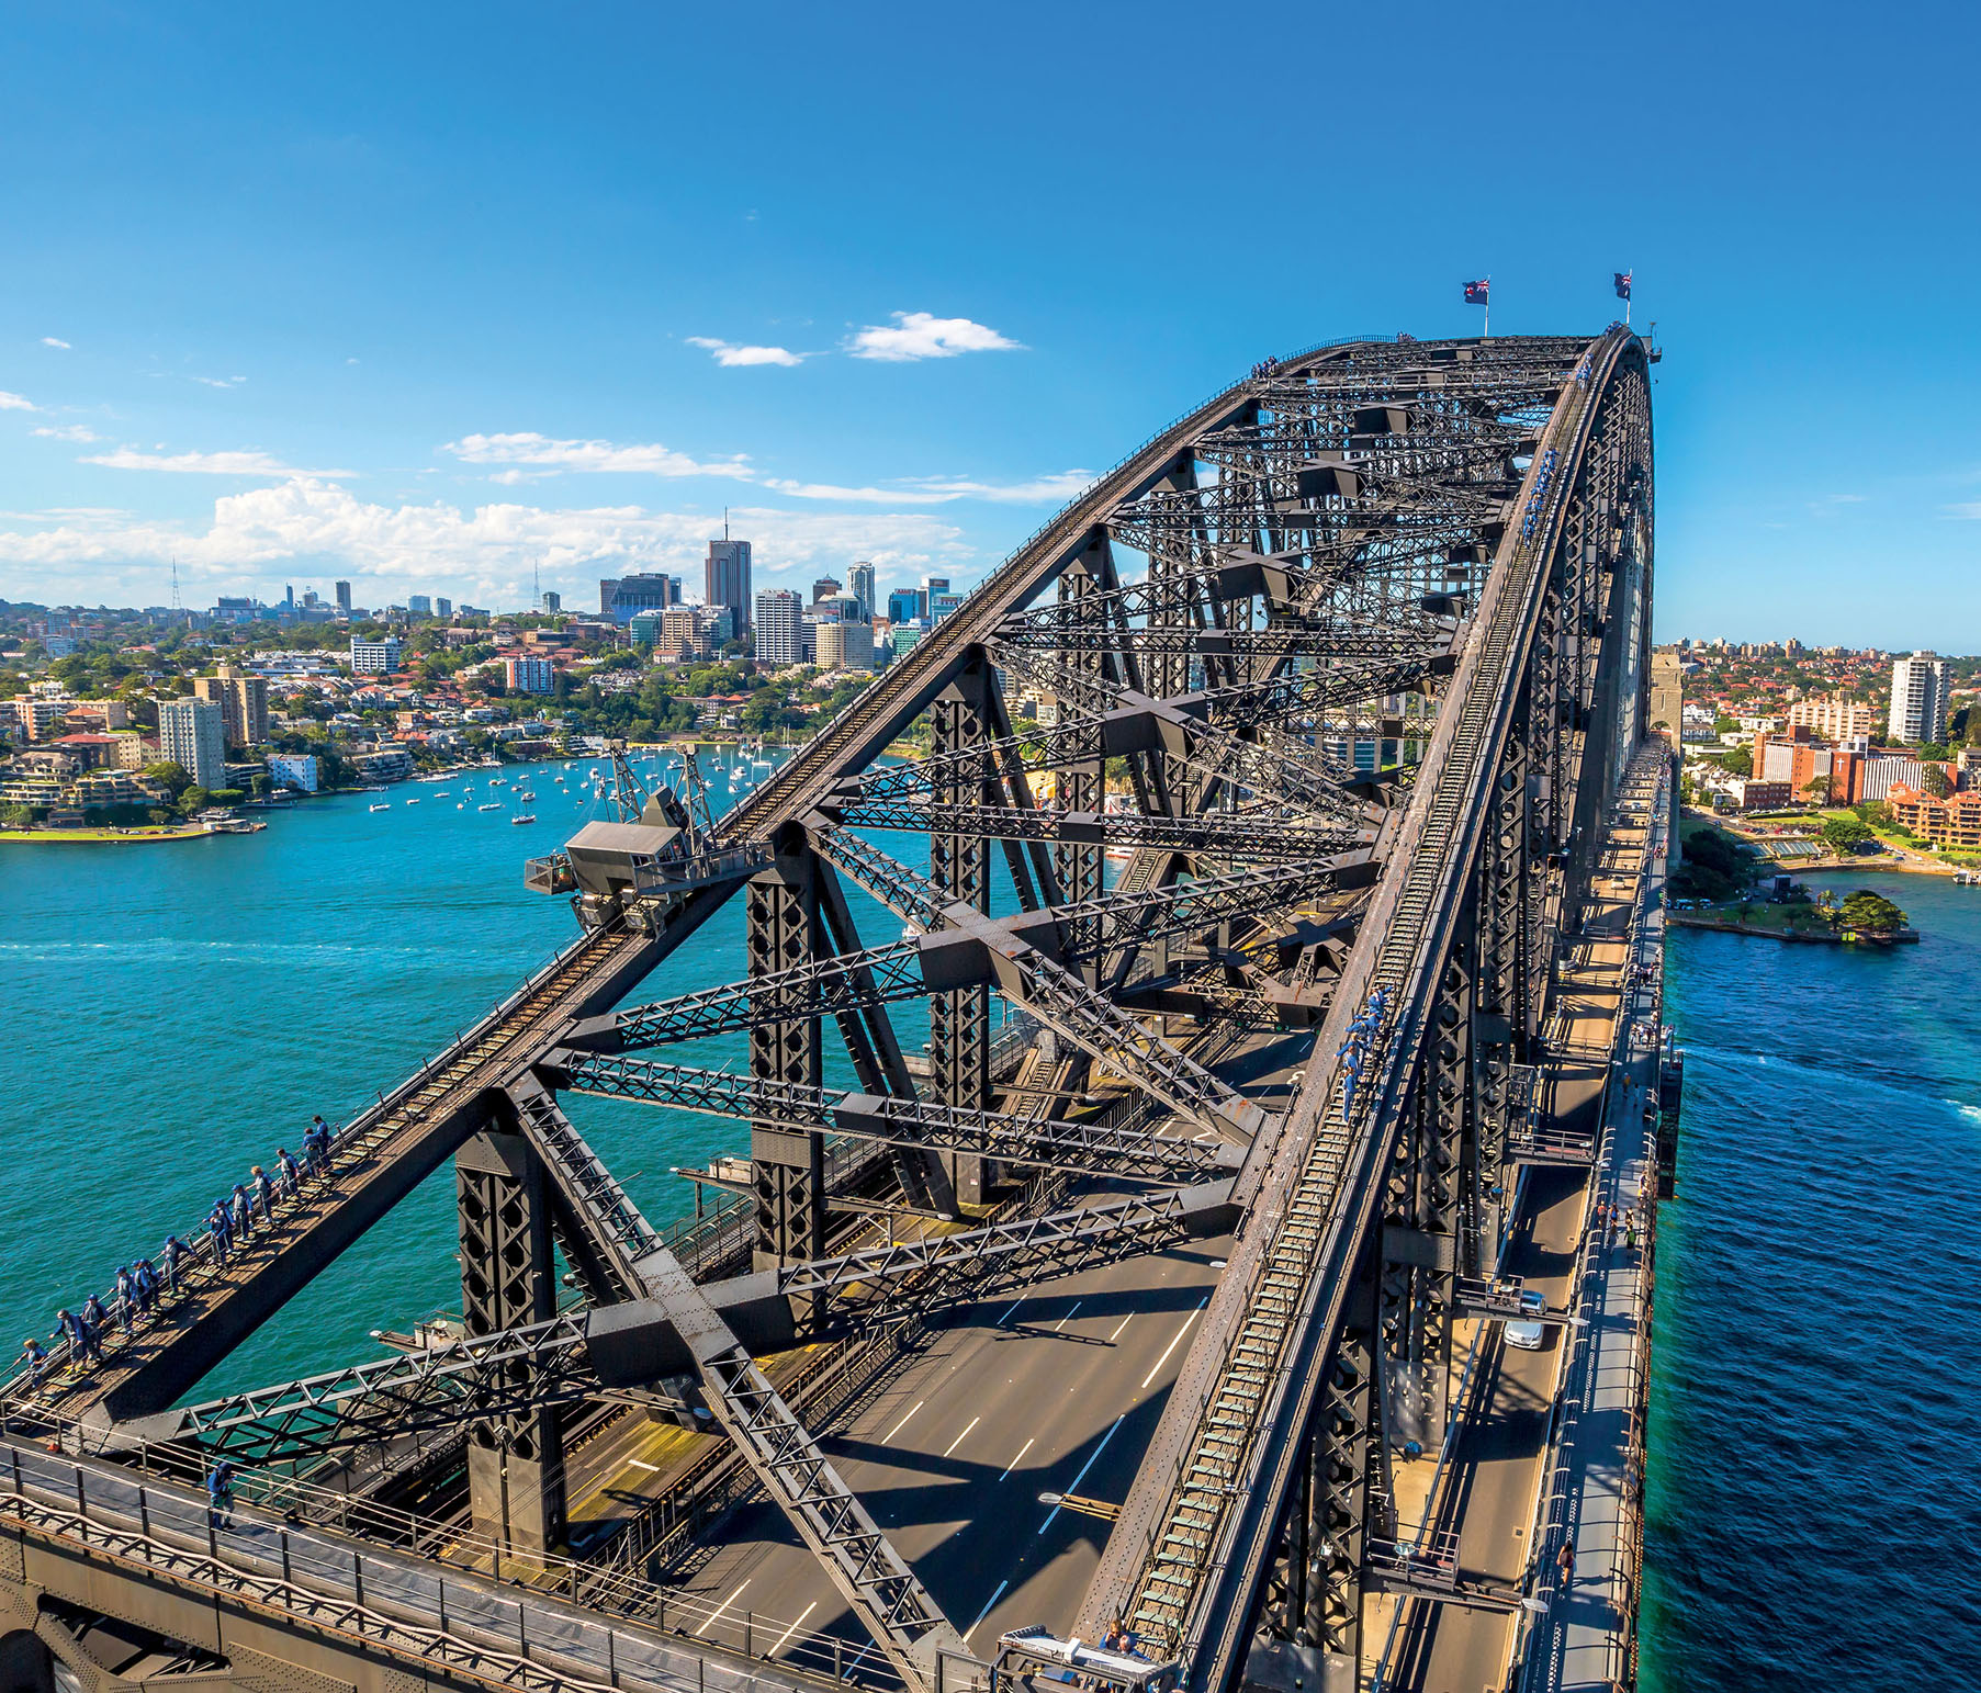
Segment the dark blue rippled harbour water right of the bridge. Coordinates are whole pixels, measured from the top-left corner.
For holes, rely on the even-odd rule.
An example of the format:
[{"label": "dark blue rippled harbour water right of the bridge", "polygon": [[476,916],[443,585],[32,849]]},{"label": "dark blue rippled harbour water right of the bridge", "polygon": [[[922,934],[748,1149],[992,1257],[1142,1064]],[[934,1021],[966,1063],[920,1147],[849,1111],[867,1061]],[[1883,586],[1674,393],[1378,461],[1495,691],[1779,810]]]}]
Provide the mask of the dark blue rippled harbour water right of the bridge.
[{"label": "dark blue rippled harbour water right of the bridge", "polygon": [[1674,933],[1644,1685],[1981,1687],[1981,889],[1890,952]]}]

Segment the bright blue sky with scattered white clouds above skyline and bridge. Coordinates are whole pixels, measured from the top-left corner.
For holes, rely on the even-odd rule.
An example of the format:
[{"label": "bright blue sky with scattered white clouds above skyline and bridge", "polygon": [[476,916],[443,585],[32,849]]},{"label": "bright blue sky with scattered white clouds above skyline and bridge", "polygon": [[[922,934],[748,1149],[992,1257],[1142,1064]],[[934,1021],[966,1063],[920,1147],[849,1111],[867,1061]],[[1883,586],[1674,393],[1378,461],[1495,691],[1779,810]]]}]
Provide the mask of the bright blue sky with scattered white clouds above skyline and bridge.
[{"label": "bright blue sky with scattered white clouds above skyline and bridge", "polygon": [[1973,14],[1391,16],[10,4],[0,596],[971,580],[1264,352],[1632,267],[1660,636],[1981,649]]}]

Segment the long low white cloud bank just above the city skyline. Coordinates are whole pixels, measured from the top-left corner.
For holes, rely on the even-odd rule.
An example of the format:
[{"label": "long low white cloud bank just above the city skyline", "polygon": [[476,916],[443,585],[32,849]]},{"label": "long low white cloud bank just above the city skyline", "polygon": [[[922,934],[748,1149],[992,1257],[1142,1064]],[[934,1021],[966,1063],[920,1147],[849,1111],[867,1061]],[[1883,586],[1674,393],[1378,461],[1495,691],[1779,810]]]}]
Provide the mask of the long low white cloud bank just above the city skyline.
[{"label": "long low white cloud bank just above the city skyline", "polygon": [[[260,586],[269,568],[307,568],[418,578],[477,602],[521,602],[531,566],[610,576],[634,568],[687,570],[721,519],[646,511],[638,505],[541,509],[481,505],[374,505],[343,487],[295,479],[214,501],[204,531],[115,511],[20,515],[34,529],[0,529],[0,592],[34,596],[48,584],[73,596],[75,572],[91,568],[93,594],[155,590],[155,574],[176,558],[180,572],[216,592]],[[886,572],[913,574],[971,558],[957,529],[927,513],[800,513],[733,509],[731,525],[757,543],[765,578],[808,580],[820,566],[872,558]],[[769,564],[767,560],[777,560]]]}]

